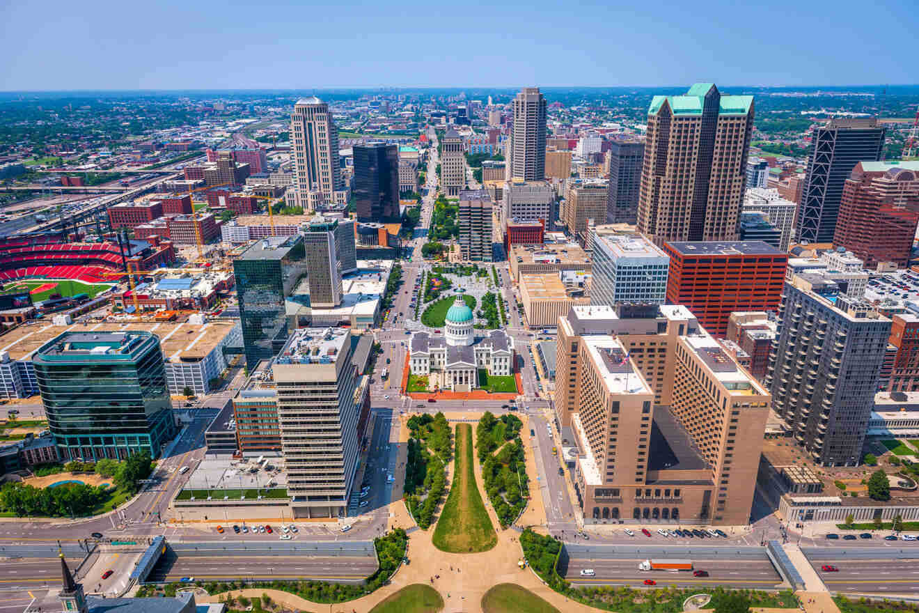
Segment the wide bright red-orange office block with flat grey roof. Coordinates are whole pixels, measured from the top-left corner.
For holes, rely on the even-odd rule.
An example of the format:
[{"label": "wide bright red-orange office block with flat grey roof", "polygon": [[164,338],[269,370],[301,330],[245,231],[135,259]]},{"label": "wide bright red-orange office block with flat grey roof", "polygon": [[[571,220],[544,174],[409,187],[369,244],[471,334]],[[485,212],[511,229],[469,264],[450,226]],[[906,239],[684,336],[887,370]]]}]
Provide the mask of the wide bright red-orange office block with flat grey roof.
[{"label": "wide bright red-orange office block with flat grey roof", "polygon": [[683,304],[723,338],[734,311],[775,311],[789,256],[762,241],[664,244],[670,256],[667,302]]}]

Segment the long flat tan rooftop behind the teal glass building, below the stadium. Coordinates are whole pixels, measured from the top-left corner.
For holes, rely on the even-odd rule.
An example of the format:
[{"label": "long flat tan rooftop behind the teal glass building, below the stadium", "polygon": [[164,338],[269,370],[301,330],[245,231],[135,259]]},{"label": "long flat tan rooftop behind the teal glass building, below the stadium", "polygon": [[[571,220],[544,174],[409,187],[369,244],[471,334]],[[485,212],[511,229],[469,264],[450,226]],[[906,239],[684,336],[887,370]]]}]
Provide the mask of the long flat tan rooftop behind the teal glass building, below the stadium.
[{"label": "long flat tan rooftop behind the teal glass building, below the stadium", "polygon": [[165,361],[197,361],[206,358],[238,325],[235,322],[187,324],[175,322],[104,322],[101,324],[46,325],[31,322],[0,335],[0,352],[10,359],[29,360],[38,348],[64,332],[119,333],[152,332],[160,339]]}]

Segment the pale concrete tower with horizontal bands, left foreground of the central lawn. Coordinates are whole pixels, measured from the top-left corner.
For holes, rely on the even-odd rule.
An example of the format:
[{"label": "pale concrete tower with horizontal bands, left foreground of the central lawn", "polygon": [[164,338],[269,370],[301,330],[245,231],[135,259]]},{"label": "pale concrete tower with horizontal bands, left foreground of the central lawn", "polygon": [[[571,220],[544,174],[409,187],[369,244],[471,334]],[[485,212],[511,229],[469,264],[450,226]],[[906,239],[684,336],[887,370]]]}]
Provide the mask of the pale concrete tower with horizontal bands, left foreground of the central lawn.
[{"label": "pale concrete tower with horizontal bands, left foreground of the central lawn", "polygon": [[278,396],[281,453],[294,519],[344,517],[364,437],[362,395],[351,334],[300,328],[271,367]]}]

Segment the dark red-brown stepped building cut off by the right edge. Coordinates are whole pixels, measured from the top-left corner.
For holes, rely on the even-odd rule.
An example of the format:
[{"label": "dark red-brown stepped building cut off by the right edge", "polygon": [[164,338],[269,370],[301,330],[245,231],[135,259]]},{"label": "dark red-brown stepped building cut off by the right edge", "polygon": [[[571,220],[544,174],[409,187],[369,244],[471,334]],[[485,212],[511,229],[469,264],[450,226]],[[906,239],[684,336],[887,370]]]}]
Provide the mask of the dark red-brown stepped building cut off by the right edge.
[{"label": "dark red-brown stepped building cut off by the right edge", "polygon": [[864,260],[906,267],[919,223],[919,162],[859,162],[845,180],[833,243]]}]

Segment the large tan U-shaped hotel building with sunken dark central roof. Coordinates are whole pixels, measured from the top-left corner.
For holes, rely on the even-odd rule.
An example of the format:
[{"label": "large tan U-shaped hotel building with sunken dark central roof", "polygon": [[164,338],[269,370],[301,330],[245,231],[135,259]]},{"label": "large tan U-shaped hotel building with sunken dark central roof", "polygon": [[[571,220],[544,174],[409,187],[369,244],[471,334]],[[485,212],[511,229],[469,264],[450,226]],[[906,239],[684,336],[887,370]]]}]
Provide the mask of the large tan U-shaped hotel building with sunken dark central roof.
[{"label": "large tan U-shaped hotel building with sunken dark central roof", "polygon": [[555,409],[584,521],[747,522],[770,396],[692,313],[574,306],[558,330]]}]

